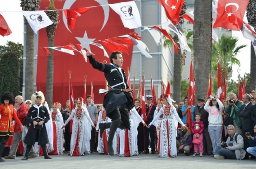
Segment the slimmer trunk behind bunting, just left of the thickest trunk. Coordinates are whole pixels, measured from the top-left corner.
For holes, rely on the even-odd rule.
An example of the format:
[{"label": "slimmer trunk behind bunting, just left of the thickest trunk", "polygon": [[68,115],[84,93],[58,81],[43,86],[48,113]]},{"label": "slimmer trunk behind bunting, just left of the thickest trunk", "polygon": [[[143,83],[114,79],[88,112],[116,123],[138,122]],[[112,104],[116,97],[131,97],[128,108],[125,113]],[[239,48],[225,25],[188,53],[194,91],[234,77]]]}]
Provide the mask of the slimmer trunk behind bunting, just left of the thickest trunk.
[{"label": "slimmer trunk behind bunting, just left of the thickest trunk", "polygon": [[[176,36],[176,34],[175,34]],[[181,50],[178,53],[174,52],[174,65],[173,65],[173,100],[180,101],[180,81],[181,81]]]}]

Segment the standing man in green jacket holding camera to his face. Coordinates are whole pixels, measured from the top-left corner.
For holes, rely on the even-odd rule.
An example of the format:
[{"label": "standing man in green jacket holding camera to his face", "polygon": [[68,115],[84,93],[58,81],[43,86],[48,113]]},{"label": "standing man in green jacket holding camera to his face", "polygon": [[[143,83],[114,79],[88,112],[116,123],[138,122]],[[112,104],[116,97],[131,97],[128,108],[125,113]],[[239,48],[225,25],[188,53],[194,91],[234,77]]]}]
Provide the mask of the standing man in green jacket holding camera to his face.
[{"label": "standing man in green jacket holding camera to his face", "polygon": [[228,100],[228,106],[225,108],[225,113],[229,114],[231,118],[233,118],[233,125],[235,126],[235,129],[238,134],[242,134],[242,131],[240,129],[241,127],[241,119],[238,117],[238,112],[243,105],[243,102],[241,100],[237,100],[236,94],[230,94],[229,95],[230,100]]}]

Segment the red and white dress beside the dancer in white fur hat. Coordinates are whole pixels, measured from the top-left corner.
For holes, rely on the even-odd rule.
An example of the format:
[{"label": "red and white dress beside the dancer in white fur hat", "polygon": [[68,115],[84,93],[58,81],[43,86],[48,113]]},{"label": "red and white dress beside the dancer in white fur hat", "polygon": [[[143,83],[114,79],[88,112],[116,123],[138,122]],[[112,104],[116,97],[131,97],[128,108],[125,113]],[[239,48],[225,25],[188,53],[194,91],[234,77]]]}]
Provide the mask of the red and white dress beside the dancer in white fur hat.
[{"label": "red and white dress beside the dancer in white fur hat", "polygon": [[50,155],[62,155],[63,154],[63,129],[64,125],[63,117],[59,111],[50,113],[53,125],[53,151]]}]

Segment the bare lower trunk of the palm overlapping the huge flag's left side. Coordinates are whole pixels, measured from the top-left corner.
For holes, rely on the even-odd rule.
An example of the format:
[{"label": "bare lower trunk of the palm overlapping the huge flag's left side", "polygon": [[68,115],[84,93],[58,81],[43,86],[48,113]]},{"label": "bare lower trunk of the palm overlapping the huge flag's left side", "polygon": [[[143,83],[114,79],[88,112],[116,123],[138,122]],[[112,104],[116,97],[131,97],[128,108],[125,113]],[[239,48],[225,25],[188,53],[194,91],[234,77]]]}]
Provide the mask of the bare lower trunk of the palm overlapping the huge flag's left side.
[{"label": "bare lower trunk of the palm overlapping the huge flag's left side", "polygon": [[[54,35],[48,38],[48,46],[54,46]],[[51,104],[53,96],[53,49],[49,48],[51,55],[47,59],[47,74],[46,74],[46,101]]]}]

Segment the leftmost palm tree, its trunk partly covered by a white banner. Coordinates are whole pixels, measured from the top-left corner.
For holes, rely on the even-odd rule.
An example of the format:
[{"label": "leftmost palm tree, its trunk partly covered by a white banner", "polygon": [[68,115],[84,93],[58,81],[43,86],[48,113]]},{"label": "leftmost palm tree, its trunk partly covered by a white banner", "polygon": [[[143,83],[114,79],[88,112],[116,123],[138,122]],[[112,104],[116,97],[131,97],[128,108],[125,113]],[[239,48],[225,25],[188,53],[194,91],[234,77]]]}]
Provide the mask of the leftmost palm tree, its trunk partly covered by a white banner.
[{"label": "leftmost palm tree, its trunk partly covered by a white banner", "polygon": [[[23,11],[37,11],[41,0],[21,0]],[[25,100],[29,100],[34,92],[34,31],[26,22],[26,69],[25,69]]]}]

